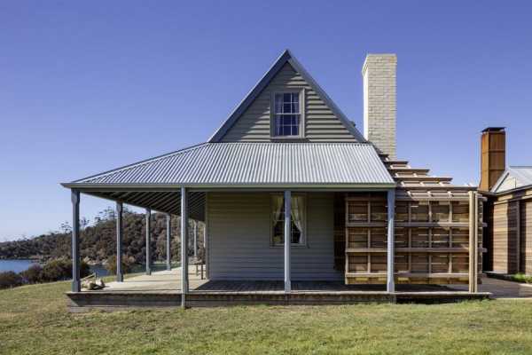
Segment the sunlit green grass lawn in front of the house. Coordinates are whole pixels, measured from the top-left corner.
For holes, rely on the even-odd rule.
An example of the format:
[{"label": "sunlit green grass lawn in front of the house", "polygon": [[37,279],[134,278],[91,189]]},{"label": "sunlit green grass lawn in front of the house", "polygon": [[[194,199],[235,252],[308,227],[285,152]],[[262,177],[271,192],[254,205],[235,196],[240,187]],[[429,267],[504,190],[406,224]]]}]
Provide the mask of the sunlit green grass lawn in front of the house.
[{"label": "sunlit green grass lawn in front of the house", "polygon": [[69,287],[0,291],[0,353],[532,353],[532,300],[71,314]]}]

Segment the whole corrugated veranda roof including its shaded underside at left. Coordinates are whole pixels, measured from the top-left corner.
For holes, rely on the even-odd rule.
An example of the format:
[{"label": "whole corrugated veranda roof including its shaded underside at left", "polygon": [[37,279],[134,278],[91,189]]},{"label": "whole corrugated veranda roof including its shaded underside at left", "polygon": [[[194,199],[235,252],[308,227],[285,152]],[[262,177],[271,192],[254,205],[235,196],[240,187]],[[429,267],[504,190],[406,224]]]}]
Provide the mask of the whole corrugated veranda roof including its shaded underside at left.
[{"label": "whole corrugated veranda roof including its shaded underside at left", "polygon": [[395,186],[367,143],[204,143],[62,184],[98,197],[204,220],[209,189],[385,189]]}]

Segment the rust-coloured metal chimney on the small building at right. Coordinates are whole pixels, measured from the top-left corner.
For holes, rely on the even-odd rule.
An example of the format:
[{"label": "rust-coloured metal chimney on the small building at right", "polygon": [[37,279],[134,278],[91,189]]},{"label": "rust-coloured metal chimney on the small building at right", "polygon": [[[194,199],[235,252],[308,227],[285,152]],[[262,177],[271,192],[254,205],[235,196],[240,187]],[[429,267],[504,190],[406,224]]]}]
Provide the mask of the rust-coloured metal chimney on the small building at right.
[{"label": "rust-coloured metal chimney on the small building at right", "polygon": [[489,191],[506,169],[505,127],[488,127],[481,136],[481,191]]}]

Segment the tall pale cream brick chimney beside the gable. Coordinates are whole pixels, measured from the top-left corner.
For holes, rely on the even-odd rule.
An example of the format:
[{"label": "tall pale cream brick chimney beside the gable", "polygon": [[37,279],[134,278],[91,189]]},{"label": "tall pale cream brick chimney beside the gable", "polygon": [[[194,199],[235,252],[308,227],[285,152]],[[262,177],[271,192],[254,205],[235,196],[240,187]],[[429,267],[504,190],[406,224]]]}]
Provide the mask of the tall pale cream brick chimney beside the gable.
[{"label": "tall pale cream brick chimney beside the gable", "polygon": [[364,138],[392,159],[396,157],[396,67],[395,54],[368,54],[362,68]]}]

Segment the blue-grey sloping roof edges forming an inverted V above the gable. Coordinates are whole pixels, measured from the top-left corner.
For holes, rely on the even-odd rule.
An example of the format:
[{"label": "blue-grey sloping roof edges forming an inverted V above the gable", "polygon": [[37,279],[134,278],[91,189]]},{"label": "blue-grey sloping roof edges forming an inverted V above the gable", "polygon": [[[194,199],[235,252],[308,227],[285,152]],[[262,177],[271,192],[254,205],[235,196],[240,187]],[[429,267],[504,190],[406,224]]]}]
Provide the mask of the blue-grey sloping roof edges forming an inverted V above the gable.
[{"label": "blue-grey sloping roof edges forming an inverted V above the gable", "polygon": [[215,143],[220,142],[223,136],[231,129],[233,124],[238,121],[239,117],[246,112],[246,109],[254,102],[259,94],[266,88],[266,86],[271,82],[271,80],[278,74],[279,70],[286,64],[289,63],[293,69],[298,72],[303,79],[309,83],[310,87],[316,91],[320,99],[324,100],[325,105],[329,106],[332,113],[343,123],[346,129],[351,133],[358,142],[366,142],[364,136],[356,130],[355,124],[348,120],[348,117],[341,112],[340,108],[336,106],[332,99],[329,98],[327,93],[319,86],[319,84],[314,80],[314,78],[305,70],[301,63],[293,57],[293,54],[289,50],[285,50],[280,57],[275,61],[270,70],[266,72],[262,79],[257,83],[254,88],[249,91],[246,95],[246,98],[240,102],[230,116],[223,122],[222,126],[215,131],[215,134],[209,138],[208,142]]}]

